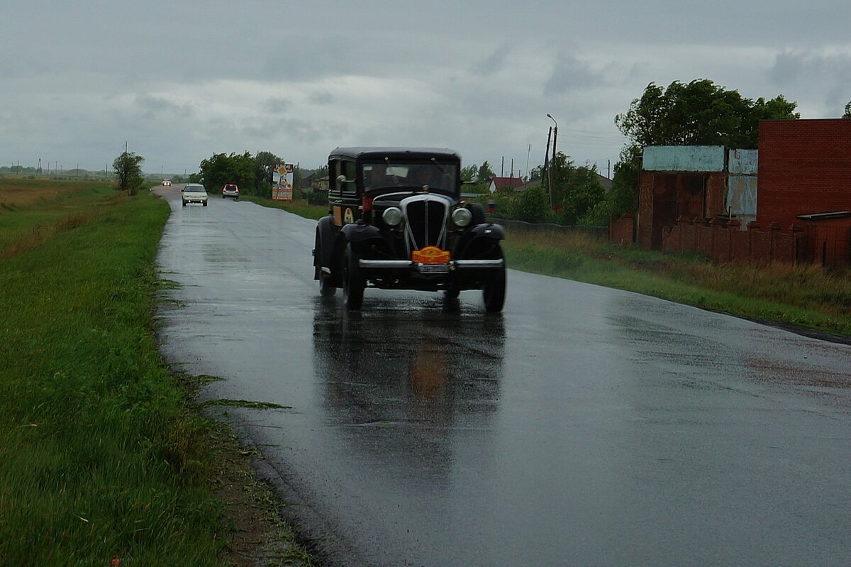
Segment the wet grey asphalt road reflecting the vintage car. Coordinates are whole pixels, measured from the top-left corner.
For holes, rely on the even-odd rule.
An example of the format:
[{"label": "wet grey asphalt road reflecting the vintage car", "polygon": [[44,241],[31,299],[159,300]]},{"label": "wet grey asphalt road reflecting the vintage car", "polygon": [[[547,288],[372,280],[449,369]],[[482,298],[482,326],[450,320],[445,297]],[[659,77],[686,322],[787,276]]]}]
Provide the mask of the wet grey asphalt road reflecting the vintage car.
[{"label": "wet grey asphalt road reflecting the vintage car", "polygon": [[851,347],[514,271],[346,313],[314,221],[171,205],[163,353],[286,406],[222,411],[326,565],[851,564]]}]

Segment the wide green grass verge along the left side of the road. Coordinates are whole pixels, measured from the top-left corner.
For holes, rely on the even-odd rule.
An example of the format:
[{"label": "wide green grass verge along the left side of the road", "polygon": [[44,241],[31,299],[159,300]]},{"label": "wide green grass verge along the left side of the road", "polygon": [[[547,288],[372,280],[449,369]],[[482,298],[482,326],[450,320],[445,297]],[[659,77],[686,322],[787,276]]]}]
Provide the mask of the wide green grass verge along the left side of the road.
[{"label": "wide green grass verge along the left side of the road", "polygon": [[[0,216],[15,250],[0,260],[0,564],[254,564],[283,524],[249,456],[192,403],[194,379],[157,351],[168,204],[68,195],[59,211],[36,200]],[[31,231],[14,227],[44,210],[60,229],[19,246]]]}]

